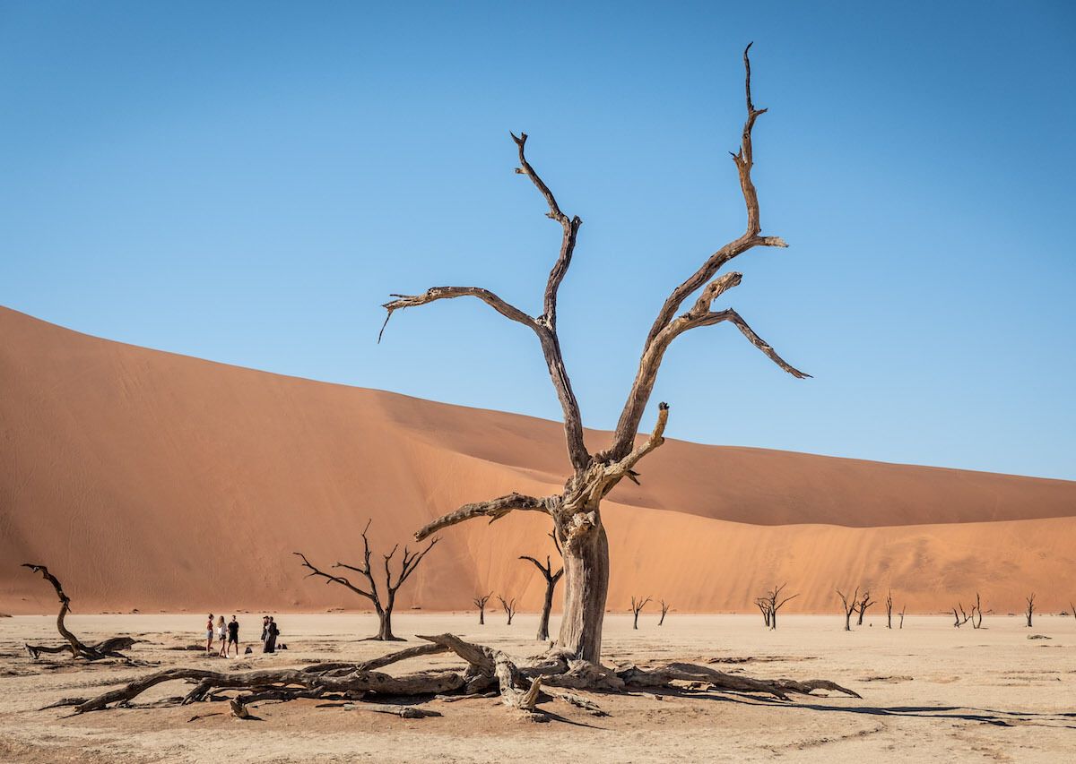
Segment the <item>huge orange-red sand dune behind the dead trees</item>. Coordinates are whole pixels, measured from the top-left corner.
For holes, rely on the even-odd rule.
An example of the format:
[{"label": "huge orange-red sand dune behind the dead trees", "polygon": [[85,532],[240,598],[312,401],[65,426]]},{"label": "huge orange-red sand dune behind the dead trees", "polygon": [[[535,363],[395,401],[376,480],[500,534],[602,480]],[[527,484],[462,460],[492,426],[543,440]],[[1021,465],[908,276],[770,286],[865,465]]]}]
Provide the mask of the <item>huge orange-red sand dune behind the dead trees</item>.
[{"label": "huge orange-red sand dune behind the dead trees", "polygon": [[[592,433],[596,447],[605,433]],[[298,379],[86,336],[0,308],[0,610],[55,608],[18,567],[47,563],[77,610],[365,607],[302,577],[293,550],[355,561],[458,504],[555,491],[556,422]],[[1076,482],[668,442],[606,510],[609,607],[789,611],[834,587],[892,586],[909,611],[976,590],[997,611],[1076,597]],[[552,551],[521,513],[442,533],[400,607],[540,604],[520,554]]]}]

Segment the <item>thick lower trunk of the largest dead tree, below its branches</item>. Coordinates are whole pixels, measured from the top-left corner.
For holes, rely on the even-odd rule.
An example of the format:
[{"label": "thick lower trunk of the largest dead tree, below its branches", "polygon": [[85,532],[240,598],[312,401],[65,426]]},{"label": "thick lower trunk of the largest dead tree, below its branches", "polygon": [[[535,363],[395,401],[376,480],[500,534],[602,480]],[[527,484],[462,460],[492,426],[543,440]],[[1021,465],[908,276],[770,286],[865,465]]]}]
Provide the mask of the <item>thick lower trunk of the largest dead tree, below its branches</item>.
[{"label": "thick lower trunk of the largest dead tree, below its branches", "polygon": [[601,621],[609,593],[609,539],[600,520],[596,528],[574,530],[563,545],[564,616],[558,647],[578,659],[600,663]]}]

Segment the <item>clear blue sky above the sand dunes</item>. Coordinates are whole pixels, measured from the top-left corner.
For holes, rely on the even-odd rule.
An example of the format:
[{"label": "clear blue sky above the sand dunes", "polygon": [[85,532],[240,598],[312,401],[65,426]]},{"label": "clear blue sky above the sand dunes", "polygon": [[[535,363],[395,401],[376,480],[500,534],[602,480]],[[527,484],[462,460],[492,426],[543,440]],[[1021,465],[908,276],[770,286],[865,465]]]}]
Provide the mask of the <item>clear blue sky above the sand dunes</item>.
[{"label": "clear blue sky above the sand dunes", "polygon": [[[1076,478],[1076,11],[1028,3],[0,4],[0,304],[285,374],[556,418],[560,328],[617,420],[669,289],[738,235],[752,49],[764,232],[651,408],[704,443]],[[869,9],[869,10],[868,10]],[[652,422],[653,410],[643,420]]]}]

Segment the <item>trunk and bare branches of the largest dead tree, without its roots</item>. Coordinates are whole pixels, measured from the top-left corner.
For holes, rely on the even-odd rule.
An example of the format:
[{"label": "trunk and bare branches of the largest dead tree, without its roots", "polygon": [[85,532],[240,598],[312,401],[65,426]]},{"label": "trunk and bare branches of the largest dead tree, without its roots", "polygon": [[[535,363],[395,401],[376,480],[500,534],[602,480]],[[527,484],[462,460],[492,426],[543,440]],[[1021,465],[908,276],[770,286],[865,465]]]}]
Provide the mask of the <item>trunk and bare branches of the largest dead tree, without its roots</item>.
[{"label": "trunk and bare branches of the largest dead tree, without its roots", "polygon": [[[750,46],[748,46],[750,48]],[[577,658],[598,662],[601,651],[601,624],[605,618],[606,597],[609,590],[609,546],[601,520],[601,502],[624,478],[638,481],[636,466],[664,443],[668,405],[657,407],[657,419],[650,437],[642,443],[636,435],[657,378],[666,350],[681,334],[693,329],[730,323],[780,369],[803,379],[809,375],[793,367],[774,348],[760,337],[747,321],[733,308],[718,308],[714,302],[736,287],[742,275],[719,271],[734,258],[755,247],[785,247],[779,236],[762,234],[759,197],[751,178],[754,154],[751,133],[755,120],[766,112],[755,109],[751,100],[751,66],[748,52],[744,52],[746,70],[747,118],[740,136],[739,150],[733,162],[739,175],[747,208],[747,226],[740,235],[717,249],[694,273],[677,285],[665,299],[642,344],[638,371],[621,412],[611,444],[601,450],[590,450],[584,442],[583,420],[579,403],[571,389],[568,371],[561,352],[557,334],[557,292],[567,274],[576,250],[577,235],[582,220],[561,210],[553,192],[527,160],[526,133],[512,134],[519,154],[515,172],[523,175],[541,194],[549,212],[548,217],[561,227],[561,246],[556,261],[546,283],[541,313],[532,316],[510,304],[499,295],[480,287],[433,287],[419,294],[393,294],[384,303],[387,312],[382,334],[392,315],[405,308],[428,305],[439,300],[473,298],[481,300],[505,318],[534,332],[541,346],[550,379],[561,402],[564,415],[564,433],[572,473],[564,490],[549,496],[528,496],[509,493],[497,499],[466,504],[453,513],[431,520],[415,533],[423,539],[449,525],[486,518],[500,519],[511,511],[537,511],[548,515],[564,552],[564,618],[557,644]],[[698,292],[693,303],[685,301]],[[379,335],[380,340],[380,335]]]}]

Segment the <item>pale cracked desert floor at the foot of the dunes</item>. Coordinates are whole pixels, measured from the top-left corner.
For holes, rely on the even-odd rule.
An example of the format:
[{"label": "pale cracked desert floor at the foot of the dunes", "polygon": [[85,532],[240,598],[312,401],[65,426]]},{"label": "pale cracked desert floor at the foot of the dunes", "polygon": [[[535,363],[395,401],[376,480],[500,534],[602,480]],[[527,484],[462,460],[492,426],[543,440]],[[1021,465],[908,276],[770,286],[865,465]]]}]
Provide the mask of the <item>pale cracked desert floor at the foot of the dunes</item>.
[{"label": "pale cracked desert floor at the foot of the dunes", "polygon": [[[230,614],[226,614],[230,615]],[[237,614],[241,638],[256,635],[257,614]],[[231,669],[302,665],[311,659],[367,659],[402,645],[358,642],[374,619],[364,614],[282,615],[286,651],[242,659],[209,659],[175,648],[197,642],[199,614],[72,616],[86,642],[130,634],[132,658],[153,666]],[[399,614],[397,634],[453,632],[526,655],[541,646],[527,638],[537,617],[512,626],[500,612],[479,626],[472,614]],[[554,626],[556,618],[554,616]],[[868,625],[873,624],[873,625]],[[883,753],[901,761],[986,759],[1072,761],[1076,746],[1076,623],[1043,615],[1027,629],[1019,616],[988,616],[983,629],[953,629],[940,616],[908,616],[904,629],[884,629],[873,615],[851,633],[834,616],[782,617],[765,631],[750,616],[670,612],[664,625],[643,612],[606,620],[606,663],[666,660],[711,662],[752,676],[827,678],[863,700],[795,696],[792,703],[685,691],[662,700],[583,693],[608,717],[553,701],[549,724],[525,721],[489,698],[431,701],[443,716],[410,720],[343,710],[317,701],[253,706],[260,721],[240,721],[227,704],[145,708],[181,695],[181,682],[159,686],[134,707],[70,717],[37,710],[67,696],[89,696],[153,671],[116,662],[75,666],[70,659],[32,662],[24,642],[56,642],[55,620],[0,619],[0,761],[4,762],[653,762],[864,761]],[[1043,635],[1048,639],[1030,639]],[[411,637],[412,644],[414,638]],[[430,657],[390,672],[453,662]]]}]

